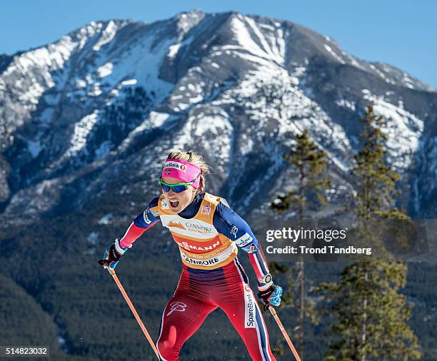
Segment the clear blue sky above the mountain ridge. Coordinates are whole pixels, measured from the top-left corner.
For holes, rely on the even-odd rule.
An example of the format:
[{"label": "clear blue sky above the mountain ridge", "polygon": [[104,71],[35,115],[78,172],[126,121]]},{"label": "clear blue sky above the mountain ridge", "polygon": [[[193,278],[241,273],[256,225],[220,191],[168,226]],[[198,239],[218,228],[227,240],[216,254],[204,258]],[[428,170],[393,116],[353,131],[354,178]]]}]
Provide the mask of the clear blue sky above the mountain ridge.
[{"label": "clear blue sky above the mountain ridge", "polygon": [[330,36],[354,56],[403,69],[437,88],[437,0],[0,0],[0,54],[41,46],[91,21],[153,22],[180,11],[240,11]]}]

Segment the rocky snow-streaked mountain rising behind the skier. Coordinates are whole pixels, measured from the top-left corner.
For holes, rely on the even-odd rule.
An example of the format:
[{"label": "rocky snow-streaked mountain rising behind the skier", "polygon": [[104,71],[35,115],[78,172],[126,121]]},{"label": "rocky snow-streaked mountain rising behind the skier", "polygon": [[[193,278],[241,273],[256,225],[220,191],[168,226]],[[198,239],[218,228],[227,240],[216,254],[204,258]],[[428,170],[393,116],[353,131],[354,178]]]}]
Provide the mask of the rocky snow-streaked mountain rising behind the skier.
[{"label": "rocky snow-streaked mountain rising behind the skier", "polygon": [[[159,190],[172,148],[211,164],[209,189],[266,208],[293,177],[282,155],[308,128],[328,152],[333,200],[368,104],[388,120],[391,162],[413,215],[436,215],[437,91],[357,59],[289,21],[189,11],[144,24],[97,21],[0,56],[0,218],[68,213],[109,189]],[[111,188],[112,187],[112,188]],[[150,197],[148,196],[150,195]]]}]

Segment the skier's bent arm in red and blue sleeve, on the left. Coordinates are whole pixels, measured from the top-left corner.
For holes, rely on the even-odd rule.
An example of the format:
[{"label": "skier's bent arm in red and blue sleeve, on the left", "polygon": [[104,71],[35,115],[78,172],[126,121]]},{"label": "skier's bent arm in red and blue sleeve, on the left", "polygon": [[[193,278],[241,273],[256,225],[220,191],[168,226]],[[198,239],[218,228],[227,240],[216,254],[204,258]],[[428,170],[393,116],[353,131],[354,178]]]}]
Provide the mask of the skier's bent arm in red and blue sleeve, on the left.
[{"label": "skier's bent arm in red and blue sleeve, on the left", "polygon": [[159,212],[158,212],[158,200],[159,197],[154,198],[149,206],[144,210],[143,213],[140,213],[133,220],[129,228],[124,233],[123,237],[119,240],[120,250],[117,249],[116,242],[116,250],[119,251],[120,254],[124,253],[124,248],[131,248],[132,243],[134,243],[146,230],[153,227],[160,220]]}]

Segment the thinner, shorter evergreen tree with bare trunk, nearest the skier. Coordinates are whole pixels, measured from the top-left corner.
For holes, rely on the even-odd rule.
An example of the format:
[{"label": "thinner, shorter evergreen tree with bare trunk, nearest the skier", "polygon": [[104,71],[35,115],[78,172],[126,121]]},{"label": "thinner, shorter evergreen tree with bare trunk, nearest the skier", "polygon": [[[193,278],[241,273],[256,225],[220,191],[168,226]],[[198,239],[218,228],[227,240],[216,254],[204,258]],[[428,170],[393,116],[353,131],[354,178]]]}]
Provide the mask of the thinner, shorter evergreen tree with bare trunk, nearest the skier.
[{"label": "thinner, shorter evergreen tree with bare trunk, nearest the skier", "polygon": [[[321,205],[326,205],[326,199],[323,195],[323,189],[330,185],[328,178],[323,177],[326,171],[326,152],[319,149],[311,141],[308,131],[305,129],[301,135],[296,136],[296,147],[291,149],[290,154],[284,158],[298,170],[298,185],[294,190],[289,190],[286,194],[278,195],[276,201],[271,203],[271,208],[279,213],[287,209],[295,209],[298,215],[298,227],[303,225],[303,218],[308,209],[308,200],[314,197]],[[316,201],[316,203],[317,203]],[[276,265],[271,265],[276,269]],[[298,308],[298,353],[303,360],[303,318],[306,313],[311,314],[311,304],[305,300],[304,288],[304,265],[302,256],[299,257],[298,263],[298,298],[296,306]],[[285,301],[291,302],[291,297]],[[306,312],[305,306],[310,308]],[[313,315],[311,315],[313,316]]]}]

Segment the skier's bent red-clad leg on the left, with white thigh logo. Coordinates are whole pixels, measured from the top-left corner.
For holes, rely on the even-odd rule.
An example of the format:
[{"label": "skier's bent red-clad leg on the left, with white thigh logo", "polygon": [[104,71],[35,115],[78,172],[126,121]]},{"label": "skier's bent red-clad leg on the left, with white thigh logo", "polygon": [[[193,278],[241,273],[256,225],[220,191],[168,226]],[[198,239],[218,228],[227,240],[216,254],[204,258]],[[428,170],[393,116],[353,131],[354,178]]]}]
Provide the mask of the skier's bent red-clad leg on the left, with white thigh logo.
[{"label": "skier's bent red-clad leg on the left, with white thigh logo", "polygon": [[159,339],[156,342],[161,360],[178,361],[184,342],[216,308],[211,302],[194,298],[184,290],[176,291],[162,314]]}]

